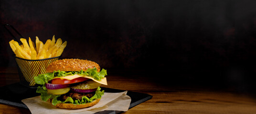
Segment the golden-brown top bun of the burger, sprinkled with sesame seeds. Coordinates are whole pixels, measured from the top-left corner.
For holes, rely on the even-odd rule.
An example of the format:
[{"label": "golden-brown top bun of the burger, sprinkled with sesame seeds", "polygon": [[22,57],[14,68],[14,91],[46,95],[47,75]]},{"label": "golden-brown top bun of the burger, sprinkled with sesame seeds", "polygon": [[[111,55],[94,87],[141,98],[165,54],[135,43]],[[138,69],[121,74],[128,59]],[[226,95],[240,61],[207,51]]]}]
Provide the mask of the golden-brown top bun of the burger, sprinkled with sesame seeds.
[{"label": "golden-brown top bun of the burger, sprinkled with sesame seeds", "polygon": [[86,71],[88,68],[96,67],[97,71],[100,71],[100,67],[96,62],[82,59],[61,59],[51,63],[46,68],[46,73],[52,73],[53,71]]}]

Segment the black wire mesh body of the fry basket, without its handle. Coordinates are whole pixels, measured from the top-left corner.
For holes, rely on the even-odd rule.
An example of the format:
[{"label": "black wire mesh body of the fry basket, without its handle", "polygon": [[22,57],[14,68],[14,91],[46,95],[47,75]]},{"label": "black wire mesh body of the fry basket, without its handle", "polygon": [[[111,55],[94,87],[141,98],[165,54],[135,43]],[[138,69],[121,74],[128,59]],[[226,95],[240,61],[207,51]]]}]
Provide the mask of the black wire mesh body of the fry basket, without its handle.
[{"label": "black wire mesh body of the fry basket, without its handle", "polygon": [[38,87],[39,85],[37,85],[34,81],[34,76],[44,74],[47,66],[58,60],[60,57],[61,56],[38,60],[28,60],[15,57],[21,85],[30,88]]}]

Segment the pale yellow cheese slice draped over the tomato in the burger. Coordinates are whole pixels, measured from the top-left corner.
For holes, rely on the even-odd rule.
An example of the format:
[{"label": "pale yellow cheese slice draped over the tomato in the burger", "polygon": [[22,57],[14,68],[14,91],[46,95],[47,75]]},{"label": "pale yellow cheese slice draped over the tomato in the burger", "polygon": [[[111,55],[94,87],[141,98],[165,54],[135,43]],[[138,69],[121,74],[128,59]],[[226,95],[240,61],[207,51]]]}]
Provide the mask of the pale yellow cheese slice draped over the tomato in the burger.
[{"label": "pale yellow cheese slice draped over the tomato in the burger", "polygon": [[89,78],[89,79],[92,79],[93,81],[95,81],[97,83],[107,85],[107,77],[104,77],[99,81],[99,80],[96,80],[96,79],[94,79],[93,77],[90,77],[90,76],[81,76],[81,75],[75,74],[75,75],[70,75],[70,76],[54,77],[53,79],[60,78],[60,79],[73,80],[73,79],[78,78],[78,77]]}]

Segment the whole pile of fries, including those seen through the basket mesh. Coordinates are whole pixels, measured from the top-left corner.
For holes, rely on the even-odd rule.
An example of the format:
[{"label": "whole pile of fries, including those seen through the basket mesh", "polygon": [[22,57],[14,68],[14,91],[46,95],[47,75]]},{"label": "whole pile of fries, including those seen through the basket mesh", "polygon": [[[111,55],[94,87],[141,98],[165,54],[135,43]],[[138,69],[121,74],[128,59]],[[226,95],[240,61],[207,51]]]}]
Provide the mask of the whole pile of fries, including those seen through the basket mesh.
[{"label": "whole pile of fries, including those seen through the basket mesh", "polygon": [[[56,59],[44,59],[51,57],[59,57],[64,51],[67,45],[67,41],[62,43],[62,39],[58,38],[55,42],[55,36],[53,39],[48,39],[45,44],[36,37],[35,44],[29,38],[29,42],[25,38],[21,38],[21,45],[17,41],[11,40],[9,42],[12,51],[15,53],[16,57],[28,59],[28,60],[38,60],[39,61],[27,61],[27,60],[16,60],[25,80],[29,83],[29,86],[34,86],[35,81],[34,76],[38,74],[44,74],[47,66],[54,62]],[[40,60],[44,59],[44,60]]]}]

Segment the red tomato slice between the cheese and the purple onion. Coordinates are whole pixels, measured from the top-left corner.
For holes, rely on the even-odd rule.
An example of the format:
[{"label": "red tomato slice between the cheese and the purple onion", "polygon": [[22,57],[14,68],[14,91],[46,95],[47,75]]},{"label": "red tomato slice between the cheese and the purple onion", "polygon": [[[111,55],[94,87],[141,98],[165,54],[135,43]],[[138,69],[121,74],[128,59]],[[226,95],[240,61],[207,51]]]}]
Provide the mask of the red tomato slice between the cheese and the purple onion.
[{"label": "red tomato slice between the cheese and the purple onion", "polygon": [[60,79],[60,78],[55,78],[52,80],[52,84],[73,84],[73,83],[78,83],[78,82],[83,82],[85,80],[88,80],[88,78],[85,77],[78,77],[73,80],[67,80],[67,79]]}]

